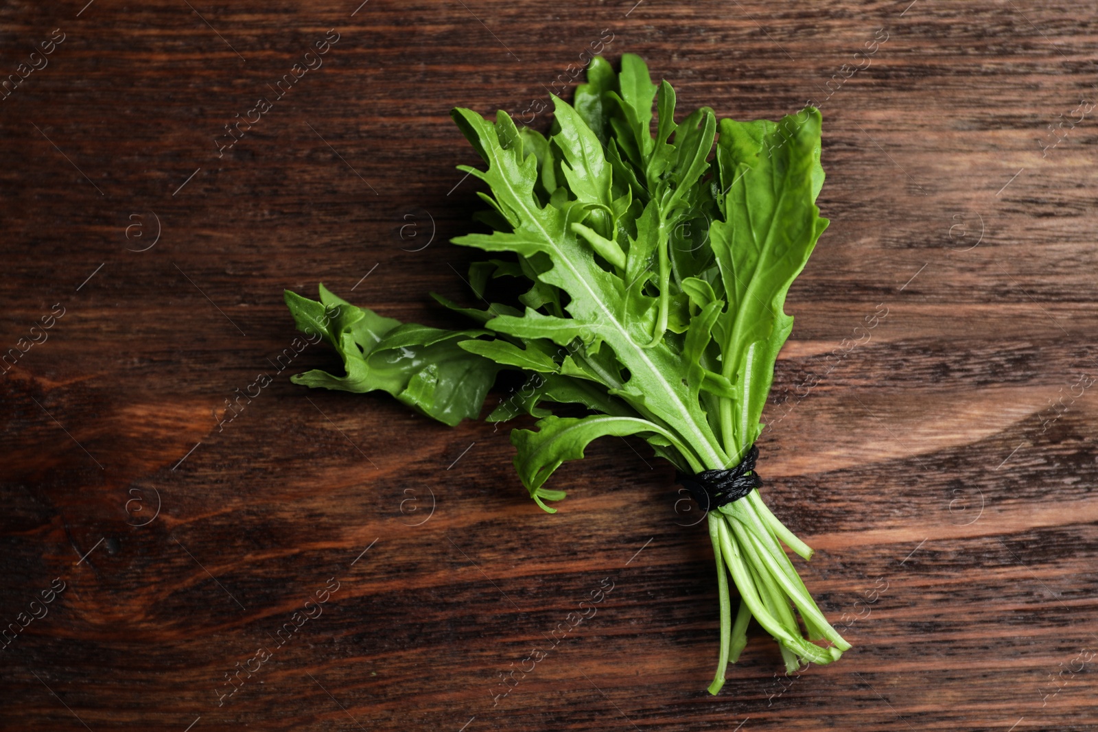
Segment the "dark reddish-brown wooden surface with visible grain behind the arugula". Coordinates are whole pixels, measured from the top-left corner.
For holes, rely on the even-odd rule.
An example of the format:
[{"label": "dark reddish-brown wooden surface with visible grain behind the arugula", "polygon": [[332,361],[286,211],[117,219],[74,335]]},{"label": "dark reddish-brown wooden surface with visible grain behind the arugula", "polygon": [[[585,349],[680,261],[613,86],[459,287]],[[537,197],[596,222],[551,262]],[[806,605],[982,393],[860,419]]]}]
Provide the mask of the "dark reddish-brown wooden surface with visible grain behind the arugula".
[{"label": "dark reddish-brown wooden surface with visible grain behind the arugula", "polygon": [[[0,620],[30,621],[0,727],[1098,730],[1093,3],[356,4],[0,8],[4,77],[64,34],[0,100],[0,348],[41,341],[0,376]],[[335,365],[322,347],[273,365],[283,288],[452,323],[425,293],[466,296],[447,241],[478,201],[448,110],[520,116],[609,37],[683,108],[825,117],[831,226],[791,291],[760,470],[854,647],[786,678],[752,624],[716,698],[710,550],[641,443],[565,465],[550,517],[506,430],[290,384]],[[220,699],[237,664],[259,667]]]}]

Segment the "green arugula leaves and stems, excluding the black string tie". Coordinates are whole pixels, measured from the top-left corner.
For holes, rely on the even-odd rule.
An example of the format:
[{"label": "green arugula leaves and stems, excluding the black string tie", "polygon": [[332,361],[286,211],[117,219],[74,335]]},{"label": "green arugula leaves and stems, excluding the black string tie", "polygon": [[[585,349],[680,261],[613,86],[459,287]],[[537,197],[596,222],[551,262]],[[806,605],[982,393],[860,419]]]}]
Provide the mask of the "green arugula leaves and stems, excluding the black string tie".
[{"label": "green arugula leaves and stems, excluding the black string tie", "polygon": [[[525,309],[463,308],[434,295],[475,325],[444,330],[356,307],[323,284],[320,302],[285,292],[298,327],[323,334],[346,370],[310,371],[293,378],[298,384],[383,390],[452,426],[479,416],[500,370],[528,372],[522,393],[488,419],[519,409],[538,418],[511,441],[523,484],[549,513],[545,502],[564,492],[546,481],[598,437],[638,435],[686,474],[739,464],[762,431],[774,362],[793,326],[786,292],[828,224],[815,204],[824,170],[814,108],[777,124],[718,123],[709,108],[675,123],[671,85],[652,83],[630,54],[620,74],[594,57],[574,104],[553,103],[548,137],[502,111],[494,123],[452,112],[488,166],[459,168],[488,184],[479,195],[491,210],[479,217],[494,229],[453,244],[498,252],[471,267],[472,290],[484,300],[492,279],[525,280]],[[546,403],[591,414],[558,417]],[[781,644],[789,671],[850,647],[781,542],[806,560],[811,549],[758,491],[707,520],[720,600],[712,694],[744,647],[752,616]],[[726,572],[741,598],[735,621]]]}]

